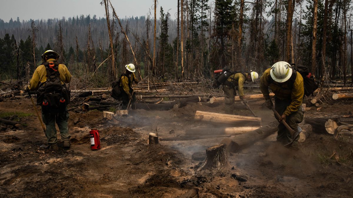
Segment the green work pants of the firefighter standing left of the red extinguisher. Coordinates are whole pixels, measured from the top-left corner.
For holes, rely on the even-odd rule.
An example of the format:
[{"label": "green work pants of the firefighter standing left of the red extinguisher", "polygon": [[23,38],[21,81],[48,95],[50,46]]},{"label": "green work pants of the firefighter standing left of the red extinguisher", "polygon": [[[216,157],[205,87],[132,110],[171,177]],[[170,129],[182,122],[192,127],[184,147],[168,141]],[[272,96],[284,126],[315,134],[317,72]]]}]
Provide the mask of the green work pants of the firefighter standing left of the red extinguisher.
[{"label": "green work pants of the firefighter standing left of the red extinguisher", "polygon": [[48,144],[55,144],[58,141],[56,137],[56,128],[55,122],[58,124],[61,140],[70,140],[70,133],[68,132],[68,120],[69,114],[68,111],[60,112],[60,113],[43,113],[42,118],[43,122],[46,125],[45,135],[47,136]]}]

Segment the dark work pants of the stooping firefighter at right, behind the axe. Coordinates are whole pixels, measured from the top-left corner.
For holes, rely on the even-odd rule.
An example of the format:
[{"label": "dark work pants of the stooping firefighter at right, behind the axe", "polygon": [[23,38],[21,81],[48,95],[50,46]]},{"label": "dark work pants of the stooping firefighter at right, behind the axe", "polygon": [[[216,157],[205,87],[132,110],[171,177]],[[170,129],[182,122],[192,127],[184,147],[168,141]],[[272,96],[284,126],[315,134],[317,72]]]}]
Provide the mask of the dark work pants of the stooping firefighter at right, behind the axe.
[{"label": "dark work pants of the stooping firefighter at right, behind the axe", "polygon": [[[280,116],[283,114],[283,112],[286,111],[289,104],[291,104],[291,100],[280,100],[278,98],[275,99],[275,109]],[[286,117],[286,123],[289,125],[289,127],[291,127],[291,129],[294,130],[294,132],[297,132],[298,124],[303,121],[303,116],[304,113],[299,108],[298,111],[293,112]],[[298,139],[299,137],[293,142],[292,147],[298,148]],[[293,139],[291,133],[288,131],[285,125],[280,123],[278,125],[277,141],[283,144],[287,144],[292,142],[292,140]]]}]

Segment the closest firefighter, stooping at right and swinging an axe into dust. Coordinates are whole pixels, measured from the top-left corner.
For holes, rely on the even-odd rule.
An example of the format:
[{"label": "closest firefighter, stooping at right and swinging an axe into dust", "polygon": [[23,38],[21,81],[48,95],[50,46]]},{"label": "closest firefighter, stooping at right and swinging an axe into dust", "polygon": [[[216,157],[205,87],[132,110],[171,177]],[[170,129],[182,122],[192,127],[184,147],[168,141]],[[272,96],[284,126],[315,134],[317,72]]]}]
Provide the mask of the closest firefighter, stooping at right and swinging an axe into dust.
[{"label": "closest firefighter, stooping at right and swinging an axe into dust", "polygon": [[[275,94],[275,110],[281,115],[277,141],[283,144],[290,143],[293,140],[292,136],[281,120],[285,120],[295,132],[297,132],[298,123],[303,121],[304,111],[301,109],[304,97],[303,77],[292,69],[289,63],[280,61],[265,70],[260,79],[260,89],[266,100],[265,105],[272,109],[269,88]],[[298,149],[298,139],[293,142],[292,148]]]}]

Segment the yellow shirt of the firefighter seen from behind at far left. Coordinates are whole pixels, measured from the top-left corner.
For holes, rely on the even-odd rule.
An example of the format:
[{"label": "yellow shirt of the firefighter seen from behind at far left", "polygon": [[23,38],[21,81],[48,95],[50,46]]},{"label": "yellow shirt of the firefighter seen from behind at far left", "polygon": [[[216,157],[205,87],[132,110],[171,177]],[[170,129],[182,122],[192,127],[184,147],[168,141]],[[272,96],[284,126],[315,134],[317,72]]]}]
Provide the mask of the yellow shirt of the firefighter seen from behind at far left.
[{"label": "yellow shirt of the firefighter seen from behind at far left", "polygon": [[[54,58],[48,59],[49,61],[55,61]],[[60,80],[61,83],[69,83],[71,80],[71,74],[68,71],[67,67],[65,64],[59,64],[58,66],[58,71],[60,73]],[[37,67],[37,69],[34,71],[33,76],[31,81],[29,82],[29,90],[34,91],[38,88],[40,83],[46,82],[47,81],[47,70],[43,64]]]}]

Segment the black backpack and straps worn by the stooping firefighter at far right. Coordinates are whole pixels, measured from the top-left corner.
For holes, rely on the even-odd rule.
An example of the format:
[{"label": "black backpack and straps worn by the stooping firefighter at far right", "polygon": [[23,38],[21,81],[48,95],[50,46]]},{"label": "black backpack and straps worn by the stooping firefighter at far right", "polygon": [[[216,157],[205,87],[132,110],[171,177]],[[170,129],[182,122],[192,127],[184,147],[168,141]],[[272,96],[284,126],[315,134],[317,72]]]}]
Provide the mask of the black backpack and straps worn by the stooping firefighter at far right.
[{"label": "black backpack and straps worn by the stooping firefighter at far right", "polygon": [[[297,79],[297,72],[303,77],[304,83],[304,95],[309,96],[319,87],[318,83],[315,82],[315,79],[310,76],[310,70],[308,67],[303,65],[298,65],[297,67],[292,67],[292,76],[287,81],[289,89],[293,88],[295,79]],[[274,80],[269,76],[269,83],[273,83]]]}]

